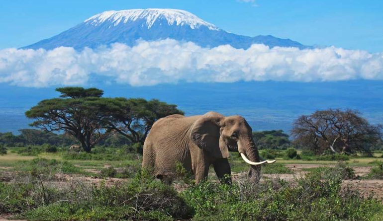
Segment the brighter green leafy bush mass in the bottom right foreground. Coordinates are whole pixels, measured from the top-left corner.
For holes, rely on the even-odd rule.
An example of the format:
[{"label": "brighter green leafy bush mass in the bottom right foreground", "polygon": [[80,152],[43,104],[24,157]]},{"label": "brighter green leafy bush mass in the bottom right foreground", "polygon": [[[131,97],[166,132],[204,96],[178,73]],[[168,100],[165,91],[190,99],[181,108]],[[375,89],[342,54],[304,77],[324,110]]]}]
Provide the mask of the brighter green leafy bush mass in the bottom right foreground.
[{"label": "brighter green leafy bush mass in the bottom right foreground", "polygon": [[380,200],[363,198],[341,184],[338,177],[308,174],[293,186],[283,180],[256,188],[246,181],[232,186],[202,182],[181,194],[194,208],[195,221],[367,221],[382,214]]}]

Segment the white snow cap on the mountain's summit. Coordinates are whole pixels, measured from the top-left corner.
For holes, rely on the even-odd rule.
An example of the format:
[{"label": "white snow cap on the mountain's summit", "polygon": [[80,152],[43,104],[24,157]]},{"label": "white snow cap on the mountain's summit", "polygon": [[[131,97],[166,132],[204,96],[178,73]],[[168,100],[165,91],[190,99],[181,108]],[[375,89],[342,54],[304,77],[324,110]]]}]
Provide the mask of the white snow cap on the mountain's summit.
[{"label": "white snow cap on the mountain's summit", "polygon": [[85,23],[92,25],[99,25],[103,22],[112,22],[114,26],[121,22],[128,23],[134,22],[139,19],[146,20],[148,29],[160,19],[166,19],[169,25],[189,25],[191,29],[199,28],[200,26],[206,26],[210,30],[218,30],[218,28],[210,24],[196,15],[180,9],[162,9],[162,8],[148,8],[148,9],[130,9],[130,10],[119,10],[119,11],[104,11],[96,14],[87,20]]}]

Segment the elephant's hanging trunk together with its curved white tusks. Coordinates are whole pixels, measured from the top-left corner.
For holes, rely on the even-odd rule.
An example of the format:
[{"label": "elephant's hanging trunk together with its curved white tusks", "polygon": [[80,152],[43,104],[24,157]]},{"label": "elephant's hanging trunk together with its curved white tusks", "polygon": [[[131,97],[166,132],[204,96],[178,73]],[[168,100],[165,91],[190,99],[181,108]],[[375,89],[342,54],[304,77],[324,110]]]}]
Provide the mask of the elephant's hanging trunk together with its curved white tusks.
[{"label": "elephant's hanging trunk together with its curved white tusks", "polygon": [[258,149],[254,144],[252,137],[248,136],[238,140],[238,151],[243,160],[251,165],[249,177],[253,182],[258,182],[261,176],[261,165],[263,163],[274,163],[275,160],[265,160],[260,162]]}]

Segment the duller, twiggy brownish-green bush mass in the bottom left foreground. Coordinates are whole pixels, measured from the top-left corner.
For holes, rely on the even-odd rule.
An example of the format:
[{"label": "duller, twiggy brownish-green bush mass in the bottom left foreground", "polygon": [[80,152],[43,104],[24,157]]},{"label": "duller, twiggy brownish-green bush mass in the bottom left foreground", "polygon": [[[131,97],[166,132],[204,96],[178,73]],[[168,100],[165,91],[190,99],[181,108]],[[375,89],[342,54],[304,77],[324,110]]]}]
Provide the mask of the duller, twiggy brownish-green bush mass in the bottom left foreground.
[{"label": "duller, twiggy brownish-green bush mass in the bottom left foreground", "polygon": [[0,214],[27,220],[185,220],[192,208],[168,185],[143,173],[129,182],[106,186],[73,183],[44,188],[39,180],[0,182]]}]

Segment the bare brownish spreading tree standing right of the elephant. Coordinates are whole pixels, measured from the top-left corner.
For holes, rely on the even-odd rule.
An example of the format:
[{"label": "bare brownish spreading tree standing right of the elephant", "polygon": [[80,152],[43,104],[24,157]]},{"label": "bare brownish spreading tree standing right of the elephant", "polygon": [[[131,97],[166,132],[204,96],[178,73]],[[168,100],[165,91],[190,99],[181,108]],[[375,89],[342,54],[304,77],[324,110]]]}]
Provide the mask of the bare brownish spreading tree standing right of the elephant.
[{"label": "bare brownish spreading tree standing right of the elephant", "polygon": [[357,110],[328,109],[300,116],[291,131],[295,143],[322,153],[368,152],[382,140],[382,126],[373,126]]}]

